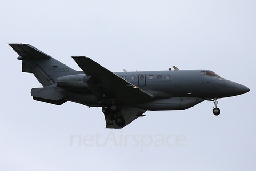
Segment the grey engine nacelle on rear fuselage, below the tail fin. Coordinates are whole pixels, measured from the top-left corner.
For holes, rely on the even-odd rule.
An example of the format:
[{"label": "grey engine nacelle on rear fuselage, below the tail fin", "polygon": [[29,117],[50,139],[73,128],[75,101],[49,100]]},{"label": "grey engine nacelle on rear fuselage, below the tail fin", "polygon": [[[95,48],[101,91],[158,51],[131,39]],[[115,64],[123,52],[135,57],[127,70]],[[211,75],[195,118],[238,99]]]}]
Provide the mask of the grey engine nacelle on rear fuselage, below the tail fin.
[{"label": "grey engine nacelle on rear fuselage, below the tail fin", "polygon": [[86,83],[90,77],[85,74],[68,75],[57,78],[57,87],[68,89],[86,89],[89,88]]}]

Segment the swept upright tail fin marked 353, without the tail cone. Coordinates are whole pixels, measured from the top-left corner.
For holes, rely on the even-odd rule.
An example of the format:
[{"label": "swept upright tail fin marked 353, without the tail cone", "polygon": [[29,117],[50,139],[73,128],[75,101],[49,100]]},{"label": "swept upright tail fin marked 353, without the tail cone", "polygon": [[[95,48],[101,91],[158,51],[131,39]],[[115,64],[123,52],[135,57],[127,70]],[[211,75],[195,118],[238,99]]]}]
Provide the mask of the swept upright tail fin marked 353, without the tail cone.
[{"label": "swept upright tail fin marked 353, without the tail cone", "polygon": [[29,44],[9,44],[22,60],[22,72],[33,73],[44,86],[57,83],[57,78],[82,74]]}]

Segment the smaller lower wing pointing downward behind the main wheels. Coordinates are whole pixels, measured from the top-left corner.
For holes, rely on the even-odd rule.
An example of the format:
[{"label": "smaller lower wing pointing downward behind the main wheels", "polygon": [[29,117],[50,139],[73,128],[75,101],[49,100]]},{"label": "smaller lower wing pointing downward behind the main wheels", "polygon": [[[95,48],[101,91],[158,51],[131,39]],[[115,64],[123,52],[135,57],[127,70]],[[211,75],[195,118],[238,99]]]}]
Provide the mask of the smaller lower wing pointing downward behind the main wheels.
[{"label": "smaller lower wing pointing downward behind the main wheels", "polygon": [[105,115],[105,120],[106,120],[106,128],[121,129],[121,128],[125,127],[126,125],[130,124],[133,120],[137,119],[138,117],[145,116],[145,115],[143,115],[143,113],[145,113],[145,112],[146,112],[146,110],[132,108],[132,107],[122,108],[120,110],[120,113],[121,113],[121,116],[125,120],[124,126],[116,125],[115,120],[113,120],[114,114],[105,112],[104,115]]}]

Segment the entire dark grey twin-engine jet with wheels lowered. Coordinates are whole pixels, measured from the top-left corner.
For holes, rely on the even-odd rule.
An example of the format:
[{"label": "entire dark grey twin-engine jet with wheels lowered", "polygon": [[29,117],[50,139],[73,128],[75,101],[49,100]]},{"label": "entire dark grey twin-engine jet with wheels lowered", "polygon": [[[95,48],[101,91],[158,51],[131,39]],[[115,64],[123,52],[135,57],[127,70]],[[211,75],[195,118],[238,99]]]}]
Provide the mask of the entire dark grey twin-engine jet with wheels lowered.
[{"label": "entire dark grey twin-engine jet with wheels lowered", "polygon": [[84,56],[72,57],[75,71],[29,44],[9,44],[22,60],[22,72],[33,73],[43,88],[32,88],[34,100],[61,105],[72,101],[102,107],[106,128],[123,128],[147,110],[183,110],[204,100],[241,95],[250,89],[210,70],[111,72]]}]

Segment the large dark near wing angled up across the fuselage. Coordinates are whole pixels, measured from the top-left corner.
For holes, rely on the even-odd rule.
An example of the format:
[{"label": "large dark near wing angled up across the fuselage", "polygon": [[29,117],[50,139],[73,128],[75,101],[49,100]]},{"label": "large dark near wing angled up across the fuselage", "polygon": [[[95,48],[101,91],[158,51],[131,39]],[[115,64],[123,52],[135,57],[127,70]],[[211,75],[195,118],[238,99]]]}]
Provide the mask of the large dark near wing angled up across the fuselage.
[{"label": "large dark near wing angled up across the fuselage", "polygon": [[115,102],[133,105],[149,102],[151,96],[87,57],[72,57],[87,76],[92,93],[100,104]]}]

